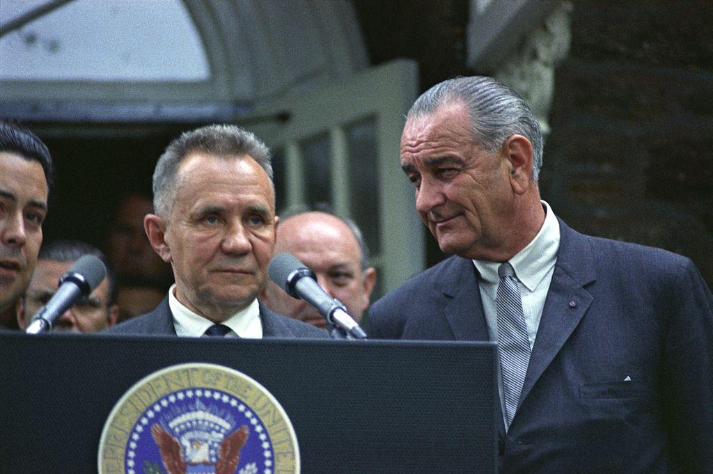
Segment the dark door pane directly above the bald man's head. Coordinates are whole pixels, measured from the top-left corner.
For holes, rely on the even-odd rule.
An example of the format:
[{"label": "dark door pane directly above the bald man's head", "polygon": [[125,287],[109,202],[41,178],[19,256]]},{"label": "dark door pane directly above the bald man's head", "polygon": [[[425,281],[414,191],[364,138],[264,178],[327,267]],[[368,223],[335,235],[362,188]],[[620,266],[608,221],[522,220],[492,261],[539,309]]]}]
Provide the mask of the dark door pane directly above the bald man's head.
[{"label": "dark door pane directly above the bald man's head", "polygon": [[308,205],[332,203],[332,164],[329,136],[319,135],[300,144],[304,163],[304,195]]}]

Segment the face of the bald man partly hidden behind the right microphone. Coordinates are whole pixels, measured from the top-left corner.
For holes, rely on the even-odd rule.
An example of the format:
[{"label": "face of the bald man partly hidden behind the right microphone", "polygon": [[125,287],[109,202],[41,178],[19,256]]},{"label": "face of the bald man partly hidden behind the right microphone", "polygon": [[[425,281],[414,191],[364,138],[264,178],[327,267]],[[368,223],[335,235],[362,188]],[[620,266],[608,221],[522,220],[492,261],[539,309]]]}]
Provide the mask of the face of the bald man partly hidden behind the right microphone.
[{"label": "face of the bald man partly hidden behind the right microphone", "polygon": [[[344,222],[324,212],[304,212],[280,222],[275,253],[288,252],[307,265],[317,282],[333,298],[344,303],[357,321],[369,306],[376,271],[361,271],[361,249]],[[265,304],[273,311],[294,319],[324,327],[317,309],[302,299],[295,299],[270,282]]]}]

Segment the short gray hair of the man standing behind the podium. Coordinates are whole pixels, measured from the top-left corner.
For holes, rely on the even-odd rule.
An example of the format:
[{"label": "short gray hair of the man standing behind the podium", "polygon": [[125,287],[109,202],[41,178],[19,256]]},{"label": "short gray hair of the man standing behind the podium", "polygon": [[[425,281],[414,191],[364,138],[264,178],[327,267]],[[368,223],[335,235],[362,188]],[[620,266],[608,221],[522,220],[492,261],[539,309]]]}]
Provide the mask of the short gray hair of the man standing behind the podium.
[{"label": "short gray hair of the man standing behind the podium", "polygon": [[254,133],[236,125],[206,125],[182,133],[158,158],[153,172],[153,210],[156,214],[162,217],[168,217],[170,214],[178,184],[178,168],[191,153],[207,153],[220,157],[250,155],[267,173],[273,195],[275,193],[270,150],[265,143]]}]

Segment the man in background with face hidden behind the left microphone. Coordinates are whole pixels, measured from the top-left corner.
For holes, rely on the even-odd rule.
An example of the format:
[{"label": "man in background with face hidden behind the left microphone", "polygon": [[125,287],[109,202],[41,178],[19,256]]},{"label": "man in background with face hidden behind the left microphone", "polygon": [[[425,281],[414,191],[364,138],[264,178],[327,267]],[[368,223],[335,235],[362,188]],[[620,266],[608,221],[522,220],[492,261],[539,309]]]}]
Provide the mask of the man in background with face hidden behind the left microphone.
[{"label": "man in background with face hidden behind the left microphone", "polygon": [[106,277],[87,297],[64,311],[52,332],[91,333],[103,331],[116,324],[116,278],[104,254],[78,240],[58,240],[41,247],[29,287],[16,304],[17,323],[23,331],[32,316],[53,297],[59,279],[83,255],[92,254],[106,266]]}]

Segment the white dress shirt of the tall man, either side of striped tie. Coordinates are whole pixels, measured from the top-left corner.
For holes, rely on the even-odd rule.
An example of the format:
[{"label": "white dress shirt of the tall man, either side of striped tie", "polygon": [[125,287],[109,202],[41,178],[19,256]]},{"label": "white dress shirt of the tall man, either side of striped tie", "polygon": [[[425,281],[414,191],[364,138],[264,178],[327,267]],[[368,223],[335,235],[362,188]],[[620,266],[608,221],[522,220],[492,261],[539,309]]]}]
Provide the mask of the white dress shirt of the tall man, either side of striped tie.
[{"label": "white dress shirt of the tall man, either side of striped tie", "polygon": [[[520,287],[520,297],[523,301],[523,316],[528,330],[530,349],[535,345],[535,336],[540,326],[542,310],[550,289],[552,275],[555,272],[557,252],[560,248],[560,225],[552,212],[550,205],[542,201],[545,208],[545,222],[538,235],[509,260],[515,270],[515,277]],[[486,262],[473,260],[480,274],[480,292],[488,324],[491,341],[498,341],[498,314],[496,311],[496,295],[498,294],[498,267],[503,262]],[[500,364],[498,364],[498,391],[501,403],[503,401],[503,382],[501,380]],[[505,410],[503,409],[503,418]],[[506,423],[507,426],[507,423]]]}]

